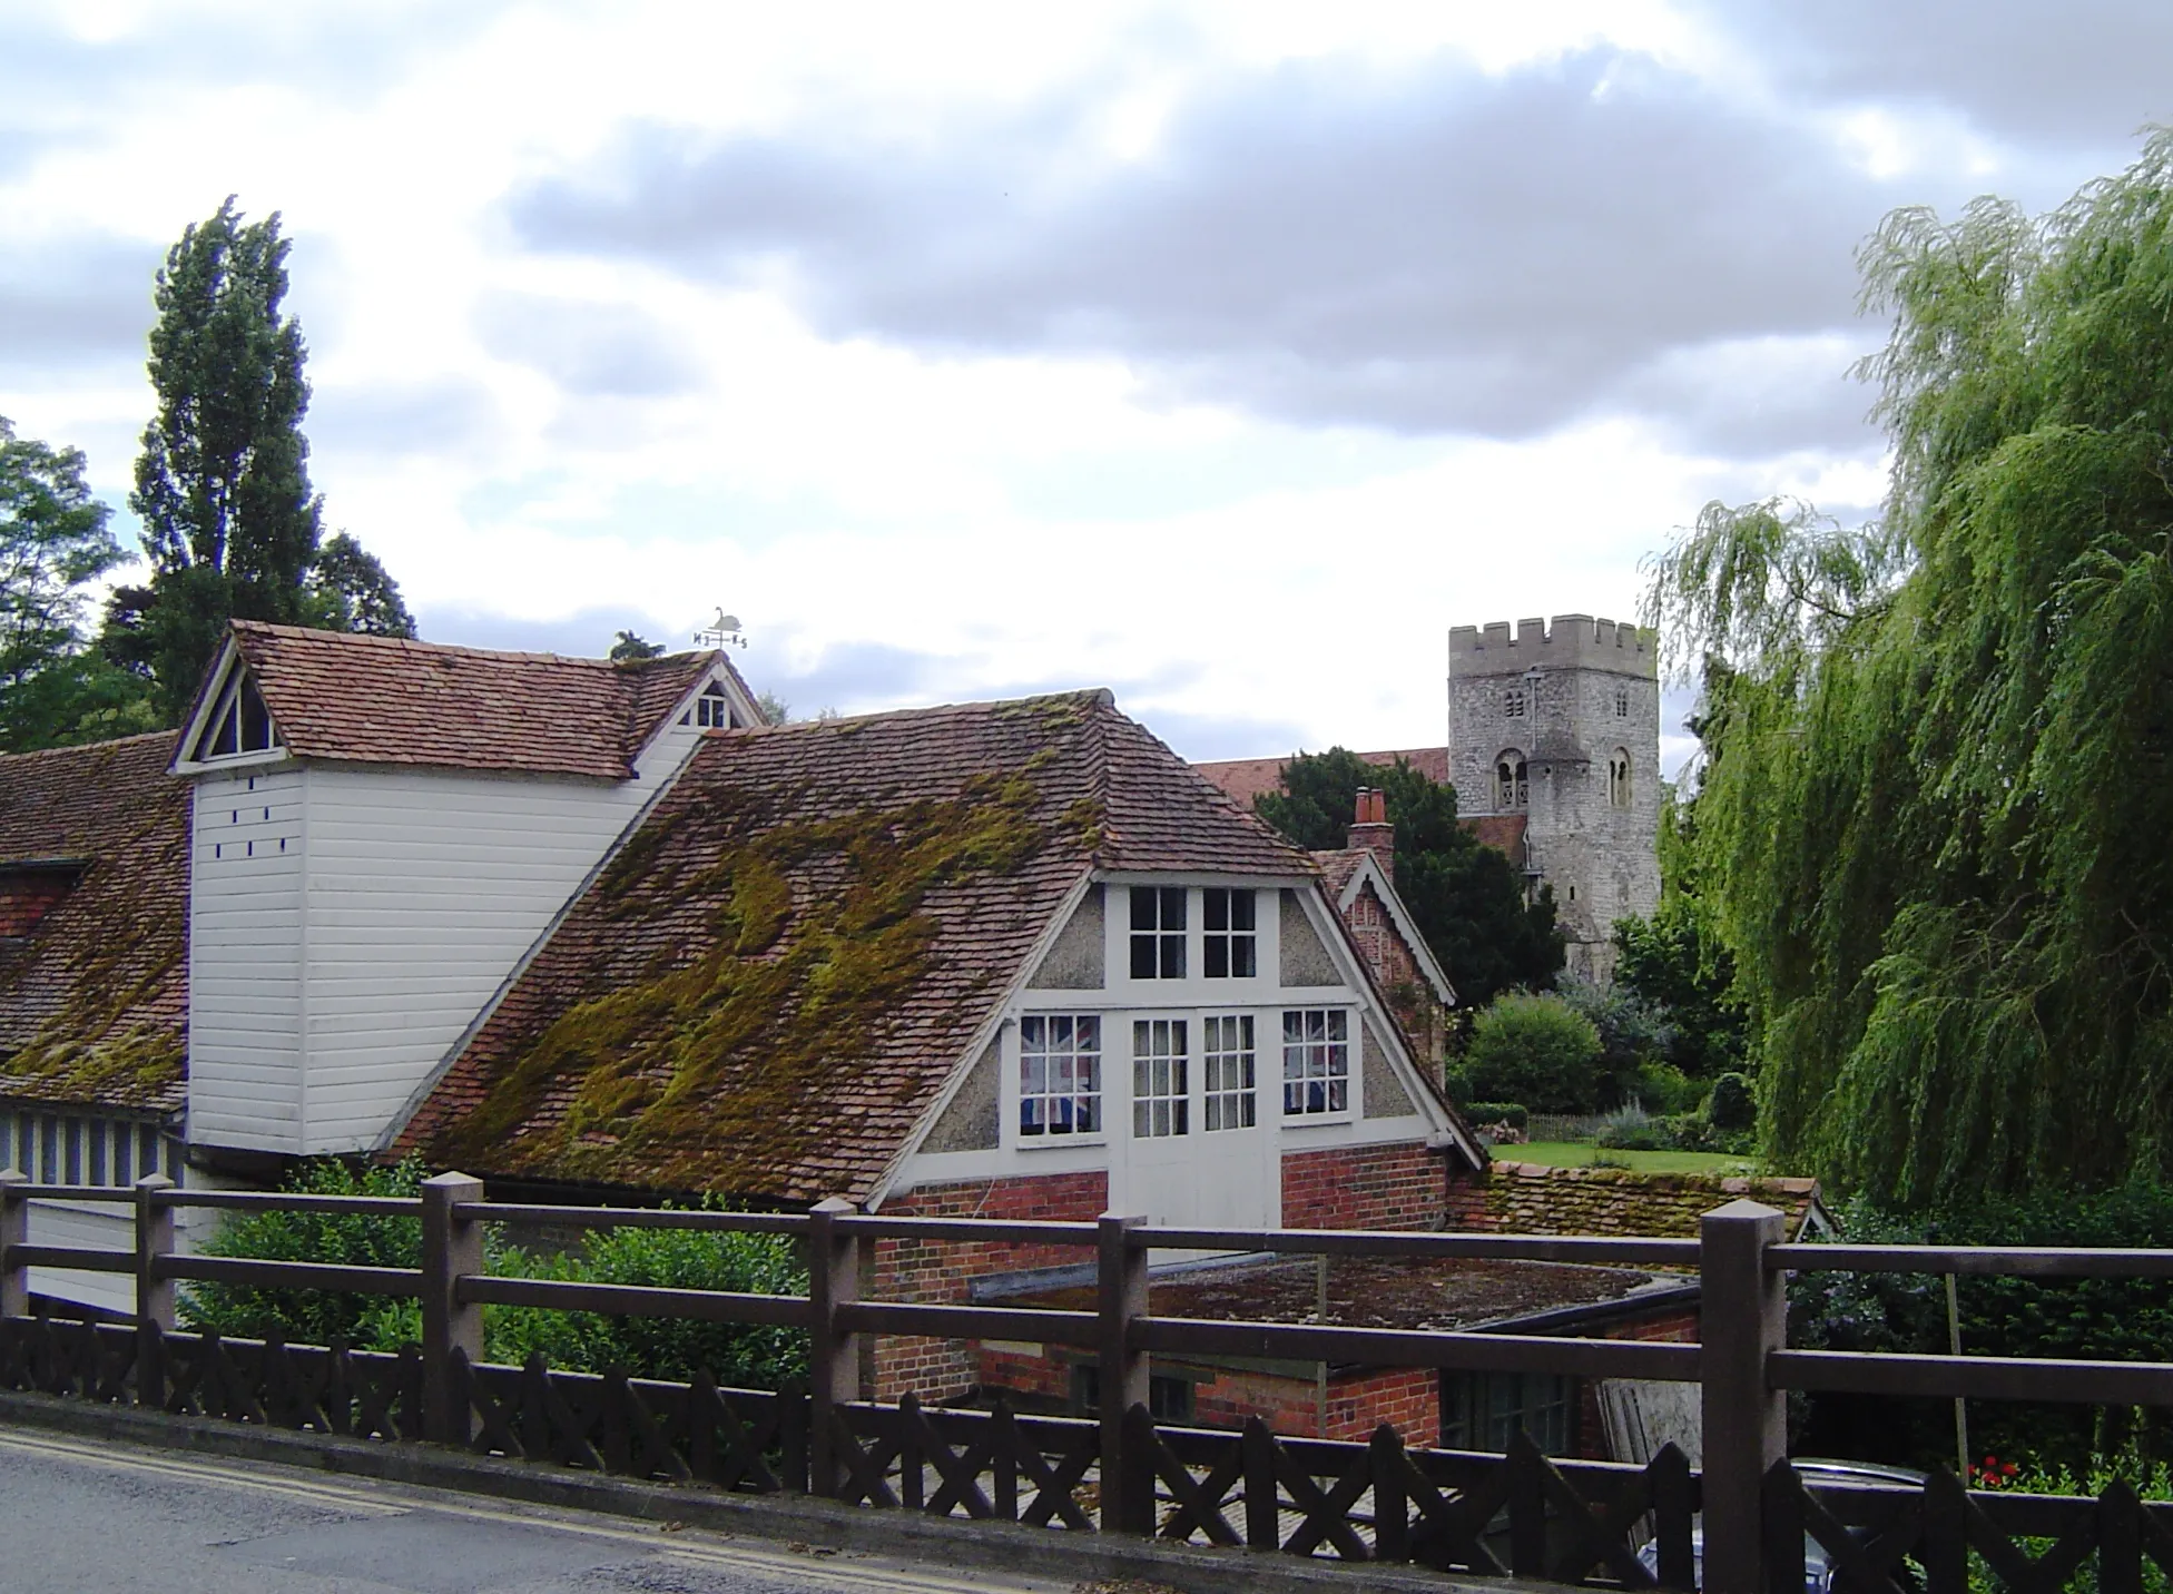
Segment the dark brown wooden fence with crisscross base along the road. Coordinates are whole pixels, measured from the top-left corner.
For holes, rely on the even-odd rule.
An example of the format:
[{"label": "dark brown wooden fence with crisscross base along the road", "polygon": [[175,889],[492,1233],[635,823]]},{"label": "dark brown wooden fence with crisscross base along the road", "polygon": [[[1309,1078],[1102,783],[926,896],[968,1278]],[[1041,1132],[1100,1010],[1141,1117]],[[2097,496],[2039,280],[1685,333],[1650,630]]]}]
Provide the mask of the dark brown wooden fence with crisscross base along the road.
[{"label": "dark brown wooden fence with crisscross base along the road", "polygon": [[[39,1199],[130,1205],[135,1249],[30,1244],[28,1203]],[[424,1266],[176,1255],[180,1207],[417,1218]],[[502,1220],[789,1236],[806,1249],[808,1294],[493,1277],[482,1227]],[[1784,1459],[1782,1422],[1788,1390],[2173,1405],[2164,1364],[1791,1351],[1782,1312],[1795,1268],[2173,1277],[2173,1253],[1784,1244],[1780,1225],[1778,1212],[1747,1201],[1708,1214],[1697,1240],[1660,1240],[887,1218],[841,1201],[808,1214],[554,1207],[485,1201],[480,1181],[463,1175],[439,1175],[422,1199],[402,1201],[191,1192],[163,1177],[133,1190],[39,1186],[0,1173],[0,1386],[721,1490],[1469,1577],[1680,1590],[1701,1579],[1719,1594],[1795,1594],[1810,1544],[1845,1594],[1964,1594],[1973,1577],[2012,1594],[2053,1594],[2080,1579],[2101,1594],[2140,1594],[2145,1561],[2173,1574],[2173,1505],[2140,1503],[2125,1485],[2093,1501],[1969,1492],[1945,1472],[1923,1488],[1806,1483]],[[861,1247],[874,1240],[1080,1247],[1093,1260],[1097,1310],[863,1301]],[[1147,1310],[1158,1249],[1695,1270],[1704,1342],[1163,1318]],[[35,1316],[28,1268],[130,1273],[137,1323]],[[387,1355],[183,1333],[174,1290],[196,1281],[415,1299],[422,1344]],[[808,1381],[732,1390],[706,1375],[674,1383],[541,1359],[493,1366],[482,1359],[485,1305],[797,1327],[808,1333]],[[1032,1416],[1002,1399],[993,1409],[930,1407],[910,1394],[867,1401],[861,1351],[884,1333],[1093,1351],[1102,1414]],[[1673,1446],[1628,1466],[1549,1459],[1523,1435],[1495,1455],[1412,1446],[1386,1425],[1365,1444],[1278,1435],[1260,1420],[1243,1431],[1173,1427],[1147,1414],[1156,1355],[1699,1383],[1704,1468]]]}]

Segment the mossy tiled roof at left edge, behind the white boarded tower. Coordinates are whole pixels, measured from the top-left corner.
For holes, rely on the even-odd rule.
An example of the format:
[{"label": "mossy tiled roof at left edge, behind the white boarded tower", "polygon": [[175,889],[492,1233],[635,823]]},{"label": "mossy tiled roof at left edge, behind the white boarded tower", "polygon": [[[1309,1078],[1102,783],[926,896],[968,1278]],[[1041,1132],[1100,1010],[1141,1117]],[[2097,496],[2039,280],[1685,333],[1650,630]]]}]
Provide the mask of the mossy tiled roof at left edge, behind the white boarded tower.
[{"label": "mossy tiled roof at left edge, behind the white boarded tower", "polygon": [[189,1019],[189,786],[174,736],[0,758],[0,869],[76,860],[0,940],[0,1097],[178,1110]]}]

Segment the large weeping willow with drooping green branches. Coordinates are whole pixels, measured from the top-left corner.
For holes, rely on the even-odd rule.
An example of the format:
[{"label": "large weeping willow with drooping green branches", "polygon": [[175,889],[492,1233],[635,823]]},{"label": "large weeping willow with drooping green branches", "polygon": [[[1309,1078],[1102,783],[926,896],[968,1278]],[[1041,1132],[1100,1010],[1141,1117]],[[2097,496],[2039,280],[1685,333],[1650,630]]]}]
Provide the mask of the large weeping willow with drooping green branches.
[{"label": "large weeping willow with drooping green branches", "polygon": [[1760,1134],[1895,1205],[2173,1175],[2173,130],[1860,267],[1882,517],[1710,506],[1647,589]]}]

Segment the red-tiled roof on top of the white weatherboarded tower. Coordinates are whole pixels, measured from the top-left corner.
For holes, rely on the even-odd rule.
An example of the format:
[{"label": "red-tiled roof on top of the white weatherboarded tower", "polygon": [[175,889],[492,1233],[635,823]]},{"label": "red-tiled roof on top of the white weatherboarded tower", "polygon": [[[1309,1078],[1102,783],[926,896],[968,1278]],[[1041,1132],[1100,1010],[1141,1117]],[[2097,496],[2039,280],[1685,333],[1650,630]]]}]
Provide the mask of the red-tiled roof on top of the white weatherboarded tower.
[{"label": "red-tiled roof on top of the white weatherboarded tower", "polygon": [[300,758],[602,780],[632,773],[658,721],[721,658],[667,654],[615,665],[256,621],[233,628]]}]

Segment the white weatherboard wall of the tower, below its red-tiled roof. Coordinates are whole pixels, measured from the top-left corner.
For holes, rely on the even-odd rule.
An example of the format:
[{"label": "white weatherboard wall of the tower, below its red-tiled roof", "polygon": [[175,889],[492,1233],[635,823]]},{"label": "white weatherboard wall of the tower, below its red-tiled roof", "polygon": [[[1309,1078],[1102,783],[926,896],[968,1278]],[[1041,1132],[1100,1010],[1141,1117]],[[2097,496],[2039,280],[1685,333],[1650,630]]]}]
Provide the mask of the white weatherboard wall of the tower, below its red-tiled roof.
[{"label": "white weatherboard wall of the tower, below its red-tiled roof", "polygon": [[189,1138],[376,1147],[698,738],[669,725],[617,784],[385,764],[200,777]]}]

